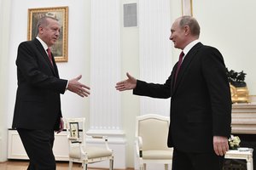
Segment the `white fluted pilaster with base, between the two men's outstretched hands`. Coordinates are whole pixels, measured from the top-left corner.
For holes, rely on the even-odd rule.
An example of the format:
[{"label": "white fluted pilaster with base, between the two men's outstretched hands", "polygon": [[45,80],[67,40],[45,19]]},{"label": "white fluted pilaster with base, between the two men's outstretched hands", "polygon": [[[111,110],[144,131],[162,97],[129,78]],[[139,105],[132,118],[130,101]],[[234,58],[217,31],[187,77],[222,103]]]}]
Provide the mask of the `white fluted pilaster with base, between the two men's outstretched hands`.
[{"label": "white fluted pilaster with base, between the two men's outstretched hands", "polygon": [[[91,1],[90,130],[108,136],[114,168],[125,168],[125,134],[121,127],[119,0]],[[90,141],[91,144],[95,143]],[[92,164],[91,167],[108,167]]]}]

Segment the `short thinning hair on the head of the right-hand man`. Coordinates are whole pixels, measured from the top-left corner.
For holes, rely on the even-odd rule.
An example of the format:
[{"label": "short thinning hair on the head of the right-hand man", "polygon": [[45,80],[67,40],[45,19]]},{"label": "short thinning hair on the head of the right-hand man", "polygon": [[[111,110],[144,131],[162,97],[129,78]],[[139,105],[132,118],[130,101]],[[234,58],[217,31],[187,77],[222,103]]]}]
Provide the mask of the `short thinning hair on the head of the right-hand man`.
[{"label": "short thinning hair on the head of the right-hand man", "polygon": [[192,16],[189,16],[189,15],[182,16],[181,20],[179,21],[179,26],[180,27],[189,26],[191,34],[193,36],[199,37],[200,35],[200,26],[197,20],[195,20],[195,18]]}]

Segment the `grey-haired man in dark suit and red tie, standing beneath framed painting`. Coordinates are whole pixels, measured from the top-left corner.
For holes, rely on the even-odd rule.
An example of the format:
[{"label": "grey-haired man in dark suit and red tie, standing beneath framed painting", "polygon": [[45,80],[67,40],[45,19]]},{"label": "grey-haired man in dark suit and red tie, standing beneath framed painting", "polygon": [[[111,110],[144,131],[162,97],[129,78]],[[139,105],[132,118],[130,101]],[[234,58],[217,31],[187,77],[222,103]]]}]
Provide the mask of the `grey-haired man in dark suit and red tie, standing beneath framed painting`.
[{"label": "grey-haired man in dark suit and red tie, standing beneath framed painting", "polygon": [[54,131],[61,132],[63,120],[60,94],[69,90],[81,97],[90,88],[79,82],[59,77],[57,65],[48,51],[60,36],[58,20],[45,16],[38,20],[38,37],[21,42],[16,59],[18,88],[13,127],[30,159],[29,170],[55,170],[52,147]]}]

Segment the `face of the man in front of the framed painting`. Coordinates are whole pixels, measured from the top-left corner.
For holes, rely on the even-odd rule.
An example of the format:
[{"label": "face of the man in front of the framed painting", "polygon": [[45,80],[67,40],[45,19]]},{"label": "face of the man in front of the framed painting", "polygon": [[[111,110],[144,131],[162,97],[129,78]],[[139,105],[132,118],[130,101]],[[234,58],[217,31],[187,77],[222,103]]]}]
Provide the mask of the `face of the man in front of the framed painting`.
[{"label": "face of the man in front of the framed painting", "polygon": [[39,31],[44,42],[51,47],[60,37],[61,26],[57,20],[47,19],[47,26],[40,26]]}]

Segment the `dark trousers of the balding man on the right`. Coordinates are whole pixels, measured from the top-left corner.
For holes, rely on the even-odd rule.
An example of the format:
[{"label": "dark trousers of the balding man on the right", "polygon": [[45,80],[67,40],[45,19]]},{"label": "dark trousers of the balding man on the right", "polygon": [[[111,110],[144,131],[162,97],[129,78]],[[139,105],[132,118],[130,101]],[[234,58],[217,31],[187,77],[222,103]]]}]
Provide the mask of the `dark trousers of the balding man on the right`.
[{"label": "dark trousers of the balding man on the right", "polygon": [[187,153],[173,150],[172,170],[222,170],[224,156],[213,151],[207,153]]}]

